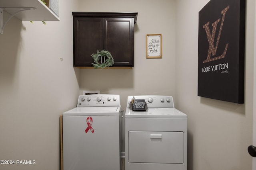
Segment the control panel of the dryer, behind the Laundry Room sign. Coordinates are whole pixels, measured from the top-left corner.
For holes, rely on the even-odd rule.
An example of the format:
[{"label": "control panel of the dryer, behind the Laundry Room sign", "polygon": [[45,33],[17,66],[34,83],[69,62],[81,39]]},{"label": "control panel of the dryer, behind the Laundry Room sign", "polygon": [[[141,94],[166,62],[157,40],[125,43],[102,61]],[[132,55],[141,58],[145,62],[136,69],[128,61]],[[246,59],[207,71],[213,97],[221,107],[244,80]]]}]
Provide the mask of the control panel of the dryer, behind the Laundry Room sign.
[{"label": "control panel of the dryer, behind the Laundry Room sign", "polygon": [[135,99],[144,99],[148,107],[153,108],[174,108],[172,96],[158,96],[158,95],[142,95],[142,96],[128,96],[127,107]]}]

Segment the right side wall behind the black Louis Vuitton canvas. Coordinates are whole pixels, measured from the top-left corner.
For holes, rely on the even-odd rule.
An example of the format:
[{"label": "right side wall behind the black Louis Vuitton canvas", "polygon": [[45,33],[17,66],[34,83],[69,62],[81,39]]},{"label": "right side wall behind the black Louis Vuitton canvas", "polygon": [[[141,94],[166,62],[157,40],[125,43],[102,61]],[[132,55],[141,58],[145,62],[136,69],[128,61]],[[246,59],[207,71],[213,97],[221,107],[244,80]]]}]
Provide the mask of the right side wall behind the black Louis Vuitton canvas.
[{"label": "right side wall behind the black Louis Vuitton canvas", "polygon": [[246,1],[244,104],[197,96],[198,12],[208,2],[177,0],[176,107],[188,114],[188,170],[252,170],[254,0]]}]

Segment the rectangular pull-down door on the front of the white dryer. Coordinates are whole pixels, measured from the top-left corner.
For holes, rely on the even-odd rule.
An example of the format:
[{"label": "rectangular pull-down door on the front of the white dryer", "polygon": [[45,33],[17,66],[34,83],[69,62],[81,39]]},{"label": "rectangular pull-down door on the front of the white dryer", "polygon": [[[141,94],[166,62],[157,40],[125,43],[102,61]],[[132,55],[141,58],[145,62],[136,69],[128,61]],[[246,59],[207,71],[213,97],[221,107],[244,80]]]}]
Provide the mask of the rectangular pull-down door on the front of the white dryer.
[{"label": "rectangular pull-down door on the front of the white dryer", "polygon": [[184,163],[184,132],[129,131],[128,161]]}]

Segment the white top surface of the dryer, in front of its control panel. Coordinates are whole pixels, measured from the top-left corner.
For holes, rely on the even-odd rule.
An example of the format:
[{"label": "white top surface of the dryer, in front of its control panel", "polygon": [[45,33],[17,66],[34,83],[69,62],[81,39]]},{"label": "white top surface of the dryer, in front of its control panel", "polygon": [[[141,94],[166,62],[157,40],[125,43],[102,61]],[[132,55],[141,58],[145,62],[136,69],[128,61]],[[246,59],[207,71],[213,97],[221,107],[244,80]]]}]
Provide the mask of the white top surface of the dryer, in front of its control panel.
[{"label": "white top surface of the dryer, in front of its control panel", "polygon": [[187,118],[187,115],[175,108],[148,108],[147,111],[132,111],[127,108],[125,117]]}]

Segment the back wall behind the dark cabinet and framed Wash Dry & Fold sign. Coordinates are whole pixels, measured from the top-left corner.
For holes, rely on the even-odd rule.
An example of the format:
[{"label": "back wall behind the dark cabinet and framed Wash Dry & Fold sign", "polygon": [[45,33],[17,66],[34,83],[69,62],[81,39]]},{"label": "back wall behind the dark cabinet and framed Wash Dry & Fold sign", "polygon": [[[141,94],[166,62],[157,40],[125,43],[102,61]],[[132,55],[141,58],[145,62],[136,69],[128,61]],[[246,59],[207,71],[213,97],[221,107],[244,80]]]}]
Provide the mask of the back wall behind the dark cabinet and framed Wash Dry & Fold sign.
[{"label": "back wall behind the dark cabinet and framed Wash Dry & Fold sign", "polygon": [[[175,1],[80,0],[79,7],[84,12],[138,12],[134,69],[81,69],[80,94],[120,94],[122,109],[130,95],[175,95]],[[156,33],[162,34],[162,59],[146,59],[146,34]]]}]

